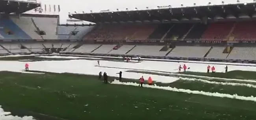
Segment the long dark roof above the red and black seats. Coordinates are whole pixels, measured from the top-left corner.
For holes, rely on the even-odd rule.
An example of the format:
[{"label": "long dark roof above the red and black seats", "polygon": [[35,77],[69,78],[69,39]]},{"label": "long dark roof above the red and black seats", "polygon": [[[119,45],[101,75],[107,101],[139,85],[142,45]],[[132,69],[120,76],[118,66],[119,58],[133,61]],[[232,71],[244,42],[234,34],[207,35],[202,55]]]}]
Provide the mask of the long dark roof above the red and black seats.
[{"label": "long dark roof above the red and black seats", "polygon": [[256,18],[256,3],[228,4],[215,6],[195,6],[135,11],[115,11],[101,13],[82,13],[69,15],[70,18],[100,22],[170,22],[181,20],[203,20],[216,18],[239,19]]}]

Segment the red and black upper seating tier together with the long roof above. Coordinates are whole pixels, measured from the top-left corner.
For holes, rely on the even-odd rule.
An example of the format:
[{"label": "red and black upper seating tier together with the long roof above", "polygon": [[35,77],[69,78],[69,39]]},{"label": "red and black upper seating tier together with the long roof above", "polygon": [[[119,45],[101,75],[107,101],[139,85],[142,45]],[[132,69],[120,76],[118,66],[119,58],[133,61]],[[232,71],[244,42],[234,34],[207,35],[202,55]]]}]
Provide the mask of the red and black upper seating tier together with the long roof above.
[{"label": "red and black upper seating tier together with the long roof above", "polygon": [[[253,40],[255,3],[72,14],[95,22],[85,40]],[[245,22],[246,21],[246,22]],[[246,27],[243,27],[246,26]],[[246,33],[245,33],[246,32]]]}]

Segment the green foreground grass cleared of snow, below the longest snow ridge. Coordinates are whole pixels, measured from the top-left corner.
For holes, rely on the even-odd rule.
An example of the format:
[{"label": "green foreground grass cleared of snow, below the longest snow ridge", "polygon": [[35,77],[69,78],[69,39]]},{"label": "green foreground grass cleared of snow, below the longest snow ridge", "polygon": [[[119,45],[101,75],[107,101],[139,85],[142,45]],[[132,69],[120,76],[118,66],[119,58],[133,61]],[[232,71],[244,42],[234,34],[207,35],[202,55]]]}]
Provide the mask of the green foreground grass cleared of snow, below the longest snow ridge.
[{"label": "green foreground grass cleared of snow, below the longest snow ridge", "polygon": [[88,75],[0,72],[0,94],[0,105],[4,109],[14,114],[33,115],[40,120],[256,118],[255,102],[125,85],[105,85],[97,76]]}]

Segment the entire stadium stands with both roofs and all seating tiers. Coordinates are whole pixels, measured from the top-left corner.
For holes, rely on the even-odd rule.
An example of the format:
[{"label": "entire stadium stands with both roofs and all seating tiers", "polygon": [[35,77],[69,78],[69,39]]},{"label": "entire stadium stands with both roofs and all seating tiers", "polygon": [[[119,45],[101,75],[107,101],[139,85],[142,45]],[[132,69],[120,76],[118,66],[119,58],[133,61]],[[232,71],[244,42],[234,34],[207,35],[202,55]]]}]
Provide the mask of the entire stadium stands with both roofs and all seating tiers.
[{"label": "entire stadium stands with both roofs and all seating tiers", "polygon": [[72,14],[96,24],[61,25],[58,15],[24,14],[40,4],[0,2],[2,55],[56,52],[256,63],[256,3]]}]

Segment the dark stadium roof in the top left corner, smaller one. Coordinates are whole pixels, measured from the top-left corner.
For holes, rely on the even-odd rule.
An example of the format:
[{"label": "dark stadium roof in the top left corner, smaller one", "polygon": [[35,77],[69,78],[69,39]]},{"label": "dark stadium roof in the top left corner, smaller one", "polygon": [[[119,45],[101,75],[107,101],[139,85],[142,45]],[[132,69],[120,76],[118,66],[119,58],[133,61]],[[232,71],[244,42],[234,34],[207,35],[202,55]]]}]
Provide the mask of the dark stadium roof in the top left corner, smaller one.
[{"label": "dark stadium roof in the top left corner, smaller one", "polygon": [[24,13],[39,6],[41,6],[41,4],[37,2],[0,0],[0,13]]}]

